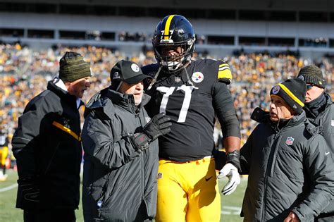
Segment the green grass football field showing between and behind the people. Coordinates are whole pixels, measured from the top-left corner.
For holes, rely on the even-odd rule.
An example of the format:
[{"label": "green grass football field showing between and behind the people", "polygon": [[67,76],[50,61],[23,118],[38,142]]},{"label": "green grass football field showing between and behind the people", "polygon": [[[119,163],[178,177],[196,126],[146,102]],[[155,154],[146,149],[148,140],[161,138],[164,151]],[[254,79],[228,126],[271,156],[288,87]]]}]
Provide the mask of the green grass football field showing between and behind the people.
[{"label": "green grass football field showing between and behind the people", "polygon": [[[23,211],[15,208],[16,192],[17,192],[17,173],[13,170],[6,172],[8,178],[4,182],[0,182],[0,221],[23,221]],[[220,187],[227,182],[222,180]],[[237,190],[232,195],[223,196],[221,198],[221,221],[234,222],[242,221],[240,218],[240,210],[242,204],[242,197],[245,193],[247,186],[247,179],[242,178],[241,184],[237,187]],[[81,203],[80,203],[81,204]],[[82,208],[75,211],[77,221],[83,221]]]}]

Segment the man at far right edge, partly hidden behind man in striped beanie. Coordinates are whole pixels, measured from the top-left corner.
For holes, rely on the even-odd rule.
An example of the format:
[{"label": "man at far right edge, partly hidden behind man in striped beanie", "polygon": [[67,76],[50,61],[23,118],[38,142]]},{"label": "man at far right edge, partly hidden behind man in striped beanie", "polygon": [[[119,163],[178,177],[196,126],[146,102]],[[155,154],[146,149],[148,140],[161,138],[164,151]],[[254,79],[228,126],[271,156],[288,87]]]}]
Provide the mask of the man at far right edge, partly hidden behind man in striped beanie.
[{"label": "man at far right edge, partly hidden behind man in striped beanie", "polygon": [[[323,127],[322,135],[331,148],[330,155],[333,156],[334,105],[330,95],[325,92],[326,80],[323,78],[323,73],[317,66],[305,66],[299,71],[298,78],[307,83],[304,106],[306,116],[314,125]],[[334,221],[334,202],[331,202],[315,221]]]}]

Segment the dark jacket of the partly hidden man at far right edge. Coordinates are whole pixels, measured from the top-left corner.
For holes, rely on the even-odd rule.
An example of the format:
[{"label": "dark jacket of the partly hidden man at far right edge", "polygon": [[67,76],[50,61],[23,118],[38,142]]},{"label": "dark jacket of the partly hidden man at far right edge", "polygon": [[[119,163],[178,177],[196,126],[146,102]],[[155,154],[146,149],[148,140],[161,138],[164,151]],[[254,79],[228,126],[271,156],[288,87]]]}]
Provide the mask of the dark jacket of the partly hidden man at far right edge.
[{"label": "dark jacket of the partly hidden man at far right edge", "polygon": [[[314,125],[320,125],[323,128],[322,135],[325,138],[328,147],[330,147],[330,155],[334,159],[334,104],[332,98],[328,93],[325,93],[326,97],[326,107],[323,111],[321,111],[318,116],[314,116],[313,113],[304,106],[305,113],[309,121]],[[334,215],[334,201],[332,201],[326,209],[321,212],[323,216],[325,214]],[[321,215],[321,216],[322,216]]]}]

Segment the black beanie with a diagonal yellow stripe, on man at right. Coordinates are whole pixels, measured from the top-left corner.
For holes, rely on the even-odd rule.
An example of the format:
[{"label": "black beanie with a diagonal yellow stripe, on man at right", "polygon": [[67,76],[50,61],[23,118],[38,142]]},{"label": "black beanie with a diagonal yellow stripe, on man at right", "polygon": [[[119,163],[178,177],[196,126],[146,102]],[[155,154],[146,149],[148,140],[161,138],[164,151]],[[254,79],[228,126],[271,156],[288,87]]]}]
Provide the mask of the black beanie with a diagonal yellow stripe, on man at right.
[{"label": "black beanie with a diagonal yellow stripe, on man at right", "polygon": [[280,97],[297,114],[302,113],[307,85],[299,78],[292,78],[275,85],[270,92],[271,97]]}]

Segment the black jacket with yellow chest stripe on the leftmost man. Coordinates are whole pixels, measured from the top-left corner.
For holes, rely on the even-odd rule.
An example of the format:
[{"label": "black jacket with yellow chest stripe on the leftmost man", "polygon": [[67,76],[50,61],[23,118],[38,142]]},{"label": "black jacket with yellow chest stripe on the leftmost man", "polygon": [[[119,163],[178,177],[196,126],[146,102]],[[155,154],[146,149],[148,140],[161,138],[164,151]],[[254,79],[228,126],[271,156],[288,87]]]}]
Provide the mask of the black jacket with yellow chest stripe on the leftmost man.
[{"label": "black jacket with yellow chest stripe on the leftmost man", "polygon": [[80,113],[76,97],[49,82],[18,118],[13,154],[19,183],[33,178],[39,187],[39,205],[26,202],[18,187],[21,209],[78,209],[80,199]]}]

